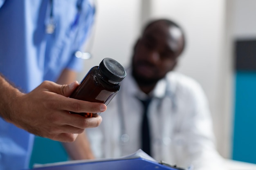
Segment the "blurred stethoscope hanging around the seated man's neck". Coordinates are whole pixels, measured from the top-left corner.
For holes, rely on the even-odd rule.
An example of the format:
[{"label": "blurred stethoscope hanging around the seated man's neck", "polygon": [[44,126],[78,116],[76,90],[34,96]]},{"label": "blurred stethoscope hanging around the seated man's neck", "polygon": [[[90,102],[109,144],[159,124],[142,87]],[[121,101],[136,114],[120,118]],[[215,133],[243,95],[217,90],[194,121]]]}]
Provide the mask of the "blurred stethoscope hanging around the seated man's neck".
[{"label": "blurred stethoscope hanging around the seated man's neck", "polygon": [[[165,90],[165,97],[169,97],[171,99],[171,112],[172,113],[176,113],[177,111],[177,99],[175,94],[173,94],[170,91],[170,84],[168,84],[167,80],[166,81],[166,90]],[[124,106],[123,106],[123,102],[122,102],[122,97],[124,93],[122,93],[122,91],[119,91],[119,95],[117,95],[117,111],[119,113],[119,121],[120,121],[120,139],[119,139],[119,144],[121,146],[126,145],[126,143],[130,140],[130,135],[126,132],[126,124],[125,124],[125,113],[124,113]],[[135,97],[135,99],[138,97]],[[157,109],[159,110],[161,107],[162,102],[159,101]]]}]

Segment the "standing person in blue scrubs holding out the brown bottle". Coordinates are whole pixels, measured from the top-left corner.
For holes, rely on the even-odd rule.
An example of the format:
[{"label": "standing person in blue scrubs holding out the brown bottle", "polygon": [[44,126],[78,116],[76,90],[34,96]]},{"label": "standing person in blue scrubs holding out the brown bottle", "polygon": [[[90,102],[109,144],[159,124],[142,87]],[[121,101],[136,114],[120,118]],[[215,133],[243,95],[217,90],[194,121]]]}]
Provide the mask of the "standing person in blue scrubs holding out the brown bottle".
[{"label": "standing person in blue scrubs holding out the brown bottle", "polygon": [[101,117],[69,111],[98,113],[106,105],[68,96],[94,13],[89,0],[0,0],[0,170],[28,168],[34,135],[74,141],[65,144],[72,158],[92,157],[83,132]]}]

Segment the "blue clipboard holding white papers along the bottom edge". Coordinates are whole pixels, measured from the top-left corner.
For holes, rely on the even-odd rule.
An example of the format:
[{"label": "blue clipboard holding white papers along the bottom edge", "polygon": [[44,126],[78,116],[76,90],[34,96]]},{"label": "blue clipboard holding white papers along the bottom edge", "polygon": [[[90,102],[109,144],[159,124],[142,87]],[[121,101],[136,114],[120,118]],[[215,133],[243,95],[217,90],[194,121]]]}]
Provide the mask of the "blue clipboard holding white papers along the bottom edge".
[{"label": "blue clipboard holding white papers along the bottom edge", "polygon": [[164,162],[157,162],[138,150],[132,155],[117,159],[99,159],[85,161],[67,161],[49,163],[32,170],[185,170]]}]

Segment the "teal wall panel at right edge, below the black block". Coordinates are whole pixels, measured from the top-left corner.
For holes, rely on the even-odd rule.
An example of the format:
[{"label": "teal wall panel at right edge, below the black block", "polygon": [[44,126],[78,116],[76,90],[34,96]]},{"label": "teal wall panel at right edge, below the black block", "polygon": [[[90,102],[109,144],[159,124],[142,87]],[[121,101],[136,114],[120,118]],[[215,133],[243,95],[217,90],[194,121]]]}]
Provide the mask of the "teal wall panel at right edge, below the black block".
[{"label": "teal wall panel at right edge, below the black block", "polygon": [[256,163],[256,72],[236,73],[233,159]]}]

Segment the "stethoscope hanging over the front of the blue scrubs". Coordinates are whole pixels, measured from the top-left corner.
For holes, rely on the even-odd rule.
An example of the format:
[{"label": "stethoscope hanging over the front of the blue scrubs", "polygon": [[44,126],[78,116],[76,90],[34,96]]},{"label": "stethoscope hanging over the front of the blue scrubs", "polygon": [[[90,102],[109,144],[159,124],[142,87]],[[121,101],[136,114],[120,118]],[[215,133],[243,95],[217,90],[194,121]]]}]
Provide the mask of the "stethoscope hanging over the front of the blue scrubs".
[{"label": "stethoscope hanging over the front of the blue scrubs", "polygon": [[[82,11],[82,4],[83,4],[83,0],[77,0],[77,2],[76,2],[77,13],[76,13],[76,17],[75,17],[73,23],[71,24],[71,29],[72,29],[72,27],[75,27],[79,22],[79,18],[80,18],[81,11]],[[47,15],[49,16],[49,18],[47,19],[47,21],[45,23],[45,33],[53,34],[56,29],[56,20],[54,19],[54,14],[53,14],[53,0],[49,0],[47,9],[48,9]],[[83,60],[87,60],[92,57],[92,54],[90,52],[82,52],[82,51],[78,50],[78,51],[74,52],[74,56],[77,58],[81,58]]]}]

